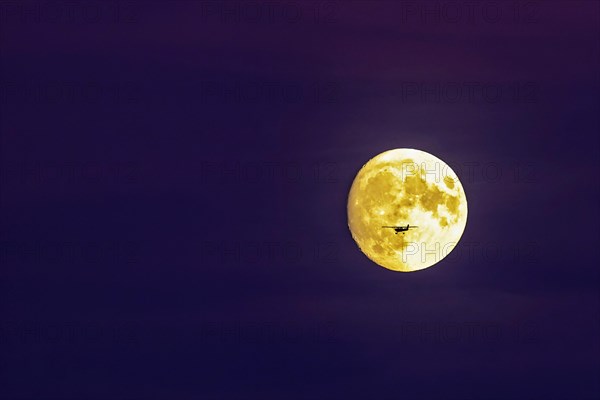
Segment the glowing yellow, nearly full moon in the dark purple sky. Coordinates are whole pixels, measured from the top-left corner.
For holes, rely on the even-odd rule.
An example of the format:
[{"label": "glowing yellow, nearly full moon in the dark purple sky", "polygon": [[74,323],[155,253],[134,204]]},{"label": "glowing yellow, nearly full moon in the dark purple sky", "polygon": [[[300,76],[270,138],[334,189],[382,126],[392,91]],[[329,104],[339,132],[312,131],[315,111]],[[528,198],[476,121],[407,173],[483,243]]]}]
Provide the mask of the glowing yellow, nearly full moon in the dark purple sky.
[{"label": "glowing yellow, nearly full moon in the dark purple sky", "polygon": [[438,263],[458,244],[466,224],[467,198],[458,176],[420,150],[375,156],[358,172],[348,195],[352,237],[367,257],[393,271]]}]

